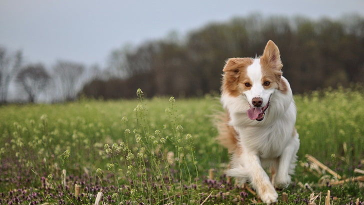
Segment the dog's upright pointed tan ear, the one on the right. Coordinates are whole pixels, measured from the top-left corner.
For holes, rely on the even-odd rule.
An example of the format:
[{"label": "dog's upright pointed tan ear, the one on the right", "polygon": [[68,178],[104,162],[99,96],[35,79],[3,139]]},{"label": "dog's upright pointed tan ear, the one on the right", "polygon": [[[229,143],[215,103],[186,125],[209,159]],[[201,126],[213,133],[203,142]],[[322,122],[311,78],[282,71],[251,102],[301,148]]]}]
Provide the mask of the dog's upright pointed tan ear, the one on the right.
[{"label": "dog's upright pointed tan ear, the one on the right", "polygon": [[266,43],[263,55],[260,57],[260,61],[276,70],[280,70],[282,68],[283,64],[280,60],[279,49],[272,40],[269,40]]}]

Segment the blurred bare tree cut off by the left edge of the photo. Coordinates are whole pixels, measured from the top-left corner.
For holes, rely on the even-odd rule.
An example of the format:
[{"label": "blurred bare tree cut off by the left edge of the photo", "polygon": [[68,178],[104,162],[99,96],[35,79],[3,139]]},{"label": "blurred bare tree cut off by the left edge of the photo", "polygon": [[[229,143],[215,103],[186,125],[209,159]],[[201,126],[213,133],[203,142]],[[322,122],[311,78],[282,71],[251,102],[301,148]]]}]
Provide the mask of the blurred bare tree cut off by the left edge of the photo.
[{"label": "blurred bare tree cut off by the left edge of the photo", "polygon": [[21,63],[21,51],[9,55],[4,47],[0,47],[0,104],[6,102],[10,81],[20,69]]}]

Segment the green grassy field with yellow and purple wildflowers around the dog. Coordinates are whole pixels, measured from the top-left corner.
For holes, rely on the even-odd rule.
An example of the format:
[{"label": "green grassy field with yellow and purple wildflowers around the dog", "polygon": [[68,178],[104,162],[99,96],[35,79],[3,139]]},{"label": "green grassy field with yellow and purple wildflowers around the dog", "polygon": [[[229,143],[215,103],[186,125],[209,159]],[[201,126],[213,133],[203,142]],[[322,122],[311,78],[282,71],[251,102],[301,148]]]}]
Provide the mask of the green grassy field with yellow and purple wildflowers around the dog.
[{"label": "green grassy field with yellow and purple wildflowers around the dog", "polygon": [[[299,161],[278,204],[308,203],[312,192],[324,204],[327,190],[331,204],[364,204],[363,183],[351,181],[364,169],[363,90],[295,95]],[[223,174],[228,155],[214,138],[216,96],[141,96],[0,106],[0,204],[94,204],[98,192],[110,204],[259,202]]]}]

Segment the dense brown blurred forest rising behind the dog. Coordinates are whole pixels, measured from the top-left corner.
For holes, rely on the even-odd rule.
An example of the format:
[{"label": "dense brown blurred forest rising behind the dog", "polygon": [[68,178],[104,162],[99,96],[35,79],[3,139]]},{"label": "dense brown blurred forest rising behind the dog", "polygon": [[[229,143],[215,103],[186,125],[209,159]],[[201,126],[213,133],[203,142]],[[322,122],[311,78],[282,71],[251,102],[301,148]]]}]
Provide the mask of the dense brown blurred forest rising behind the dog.
[{"label": "dense brown blurred forest rising behind the dog", "polygon": [[199,96],[218,92],[222,67],[229,57],[260,55],[265,43],[279,47],[283,75],[294,93],[364,81],[364,18],[346,15],[333,20],[305,17],[236,17],[191,31],[184,39],[144,42],[112,51],[109,64],[123,78],[93,80],[87,96]]}]

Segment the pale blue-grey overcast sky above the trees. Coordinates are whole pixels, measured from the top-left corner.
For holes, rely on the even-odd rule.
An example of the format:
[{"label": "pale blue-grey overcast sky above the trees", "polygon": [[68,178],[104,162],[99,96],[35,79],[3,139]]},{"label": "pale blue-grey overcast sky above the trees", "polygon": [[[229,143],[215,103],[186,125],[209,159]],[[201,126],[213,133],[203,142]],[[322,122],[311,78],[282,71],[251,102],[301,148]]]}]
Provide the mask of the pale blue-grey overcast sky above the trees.
[{"label": "pale blue-grey overcast sky above the trees", "polygon": [[110,51],[181,36],[212,21],[258,12],[338,18],[364,15],[364,0],[0,0],[0,45],[22,50],[25,62],[57,59],[103,66]]}]

